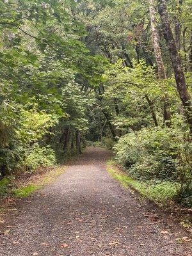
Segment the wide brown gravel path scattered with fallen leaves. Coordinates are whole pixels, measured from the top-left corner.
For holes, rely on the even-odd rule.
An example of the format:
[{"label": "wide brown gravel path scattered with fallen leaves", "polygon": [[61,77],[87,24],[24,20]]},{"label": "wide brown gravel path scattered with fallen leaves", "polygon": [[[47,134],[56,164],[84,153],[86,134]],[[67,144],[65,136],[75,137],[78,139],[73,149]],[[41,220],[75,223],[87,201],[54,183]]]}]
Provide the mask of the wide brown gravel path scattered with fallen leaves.
[{"label": "wide brown gravel path scattered with fallen leaves", "polygon": [[0,222],[0,255],[192,255],[171,215],[106,172],[110,157],[88,148],[52,184],[14,200]]}]

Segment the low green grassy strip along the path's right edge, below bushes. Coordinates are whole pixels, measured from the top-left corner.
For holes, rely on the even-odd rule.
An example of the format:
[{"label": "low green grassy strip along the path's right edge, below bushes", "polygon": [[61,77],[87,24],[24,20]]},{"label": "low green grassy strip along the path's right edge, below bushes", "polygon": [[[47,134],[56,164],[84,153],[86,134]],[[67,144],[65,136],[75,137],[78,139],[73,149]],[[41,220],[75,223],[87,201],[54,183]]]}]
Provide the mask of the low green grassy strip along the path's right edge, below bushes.
[{"label": "low green grassy strip along the path's right edge, below bushes", "polygon": [[111,173],[112,177],[118,180],[125,188],[133,188],[141,196],[152,200],[159,206],[166,205],[173,196],[177,194],[177,183],[170,181],[157,181],[150,180],[150,182],[143,182],[135,180],[122,172],[117,166],[115,161],[107,162],[107,170]]}]

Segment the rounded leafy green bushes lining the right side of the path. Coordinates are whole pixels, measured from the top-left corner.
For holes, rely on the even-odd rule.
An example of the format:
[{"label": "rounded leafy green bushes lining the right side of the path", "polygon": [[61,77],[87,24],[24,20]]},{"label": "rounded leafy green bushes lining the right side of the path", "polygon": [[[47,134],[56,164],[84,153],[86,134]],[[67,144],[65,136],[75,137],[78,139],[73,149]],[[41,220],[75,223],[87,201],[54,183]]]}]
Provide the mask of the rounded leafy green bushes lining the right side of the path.
[{"label": "rounded leafy green bushes lining the right side of the path", "polygon": [[[141,194],[192,206],[192,145],[178,129],[141,129],[115,145],[116,161]],[[137,189],[137,188],[136,188]]]}]

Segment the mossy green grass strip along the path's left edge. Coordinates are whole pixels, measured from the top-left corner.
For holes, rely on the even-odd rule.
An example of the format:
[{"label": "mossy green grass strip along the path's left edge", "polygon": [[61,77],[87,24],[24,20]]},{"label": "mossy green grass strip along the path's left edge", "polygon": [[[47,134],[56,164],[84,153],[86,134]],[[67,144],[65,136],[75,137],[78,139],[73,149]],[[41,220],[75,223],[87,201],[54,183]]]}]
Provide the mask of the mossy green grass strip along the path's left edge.
[{"label": "mossy green grass strip along the path's left edge", "polygon": [[[12,179],[4,178],[0,181],[0,195],[13,195],[17,197],[27,197],[34,193],[36,190],[43,188],[45,185],[53,182],[56,177],[65,172],[65,166],[60,166],[48,170],[40,175],[40,177],[34,177],[30,182],[21,184],[17,188],[12,187]],[[14,180],[13,180],[14,184]]]}]

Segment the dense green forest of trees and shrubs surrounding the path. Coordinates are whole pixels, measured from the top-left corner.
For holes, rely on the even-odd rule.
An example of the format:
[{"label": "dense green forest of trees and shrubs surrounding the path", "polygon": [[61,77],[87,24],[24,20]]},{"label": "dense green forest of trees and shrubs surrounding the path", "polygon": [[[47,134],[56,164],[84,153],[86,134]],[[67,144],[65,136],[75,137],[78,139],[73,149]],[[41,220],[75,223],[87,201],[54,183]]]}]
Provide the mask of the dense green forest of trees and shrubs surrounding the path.
[{"label": "dense green forest of trees and shrubs surrounding the path", "polygon": [[191,0],[1,1],[1,177],[97,141],[131,177],[191,204],[191,11]]}]

